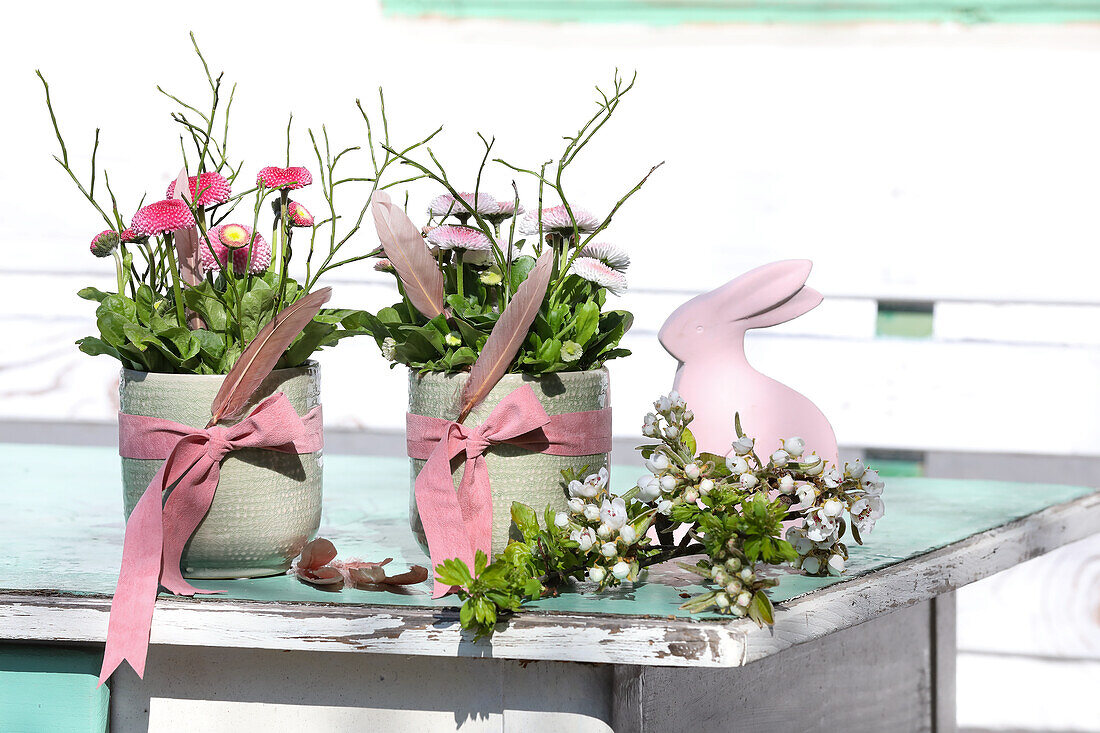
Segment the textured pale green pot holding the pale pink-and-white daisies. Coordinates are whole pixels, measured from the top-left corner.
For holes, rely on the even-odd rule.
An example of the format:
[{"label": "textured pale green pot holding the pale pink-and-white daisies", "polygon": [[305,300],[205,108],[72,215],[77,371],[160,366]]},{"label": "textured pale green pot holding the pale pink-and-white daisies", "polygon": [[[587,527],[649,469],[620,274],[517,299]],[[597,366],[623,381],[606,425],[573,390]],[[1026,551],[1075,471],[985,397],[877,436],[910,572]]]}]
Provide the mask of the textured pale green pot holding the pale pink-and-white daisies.
[{"label": "textured pale green pot holding the pale pink-and-white daisies", "polygon": [[[417,374],[409,372],[409,412],[453,419],[455,396],[466,383],[466,374]],[[610,380],[606,369],[591,372],[564,372],[548,376],[528,374],[506,374],[493,387],[488,396],[470,413],[463,424],[477,425],[488,417],[499,402],[524,384],[530,384],[548,415],[563,415],[607,407],[610,400]],[[603,467],[610,470],[610,456],[547,456],[535,453],[516,446],[496,445],[485,451],[485,466],[493,486],[493,553],[499,553],[508,544],[509,535],[518,538],[518,529],[512,523],[512,503],[522,502],[535,508],[541,522],[542,510],[553,506],[565,511],[565,484],[562,469],[572,468],[580,472],[585,466],[586,473],[595,473]],[[426,461],[409,459],[409,524],[417,541],[428,551],[424,525],[417,512],[413,483]],[[458,488],[465,468],[465,461],[455,461],[452,472]]]}]

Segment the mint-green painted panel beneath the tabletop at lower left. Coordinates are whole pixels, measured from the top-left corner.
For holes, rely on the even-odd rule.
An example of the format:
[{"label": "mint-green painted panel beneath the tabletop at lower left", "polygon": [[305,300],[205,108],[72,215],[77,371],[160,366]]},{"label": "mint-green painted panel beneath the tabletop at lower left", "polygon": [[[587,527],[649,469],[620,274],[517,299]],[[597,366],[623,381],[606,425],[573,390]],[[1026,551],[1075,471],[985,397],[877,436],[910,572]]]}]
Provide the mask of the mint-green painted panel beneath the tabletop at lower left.
[{"label": "mint-green painted panel beneath the tabletop at lower left", "polygon": [[97,648],[0,644],[0,731],[105,733],[110,693]]}]

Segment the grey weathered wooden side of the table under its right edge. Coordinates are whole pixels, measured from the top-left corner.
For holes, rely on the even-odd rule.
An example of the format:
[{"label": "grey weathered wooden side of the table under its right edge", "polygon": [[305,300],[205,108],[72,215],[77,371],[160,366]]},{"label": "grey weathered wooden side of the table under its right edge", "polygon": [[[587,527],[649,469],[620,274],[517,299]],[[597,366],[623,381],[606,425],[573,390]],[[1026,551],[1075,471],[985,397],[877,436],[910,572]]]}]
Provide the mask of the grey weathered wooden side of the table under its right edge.
[{"label": "grey weathered wooden side of the table under its right edge", "polygon": [[622,733],[954,733],[955,595],[732,669],[615,669]]}]

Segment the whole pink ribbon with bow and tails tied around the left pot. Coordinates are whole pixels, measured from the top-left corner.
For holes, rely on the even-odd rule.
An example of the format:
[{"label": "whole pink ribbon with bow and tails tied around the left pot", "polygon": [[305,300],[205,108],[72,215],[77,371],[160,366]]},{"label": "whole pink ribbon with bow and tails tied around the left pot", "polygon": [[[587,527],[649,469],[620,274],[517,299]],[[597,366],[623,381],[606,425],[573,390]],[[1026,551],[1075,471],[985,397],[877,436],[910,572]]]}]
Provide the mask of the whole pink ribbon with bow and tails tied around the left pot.
[{"label": "whole pink ribbon with bow and tails tied around the left pot", "polygon": [[[213,502],[221,460],[241,448],[312,453],[322,447],[321,408],[299,417],[280,392],[229,427],[193,428],[119,413],[119,455],[164,459],[164,464],[127,521],[100,685],[123,660],[139,677],[144,676],[158,584],[176,595],[223,592],[194,588],[179,571],[184,546]],[[176,486],[164,502],[163,494],[173,484]]]}]

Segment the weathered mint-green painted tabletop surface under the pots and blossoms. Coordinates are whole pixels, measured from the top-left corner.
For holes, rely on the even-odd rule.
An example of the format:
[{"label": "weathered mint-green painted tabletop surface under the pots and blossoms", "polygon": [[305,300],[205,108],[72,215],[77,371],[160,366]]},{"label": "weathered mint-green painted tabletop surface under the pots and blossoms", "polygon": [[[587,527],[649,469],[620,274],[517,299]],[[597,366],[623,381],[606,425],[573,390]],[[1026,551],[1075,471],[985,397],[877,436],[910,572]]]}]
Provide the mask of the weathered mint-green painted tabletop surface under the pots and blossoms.
[{"label": "weathered mint-green painted tabletop surface under the pots and blossoms", "polygon": [[[4,467],[4,532],[0,533],[0,592],[53,590],[66,594],[110,595],[122,555],[122,496],[119,461],[106,448],[0,445]],[[617,467],[613,483],[634,484],[642,469]],[[1001,481],[897,478],[887,484],[887,515],[865,547],[854,547],[843,578],[807,578],[780,572],[778,601],[790,600],[845,579],[856,578],[1049,506],[1079,499],[1096,489]],[[408,526],[408,460],[326,456],[321,536],[336,543],[345,559],[394,558],[394,567],[427,565]],[[653,577],[671,578],[669,583]],[[688,615],[678,606],[681,592],[696,592],[684,573],[656,571],[650,582],[605,594],[583,588],[544,599],[544,611],[625,615]],[[407,593],[319,590],[279,576],[250,580],[197,581],[224,595],[257,601],[452,606],[432,601],[424,584]]]}]

